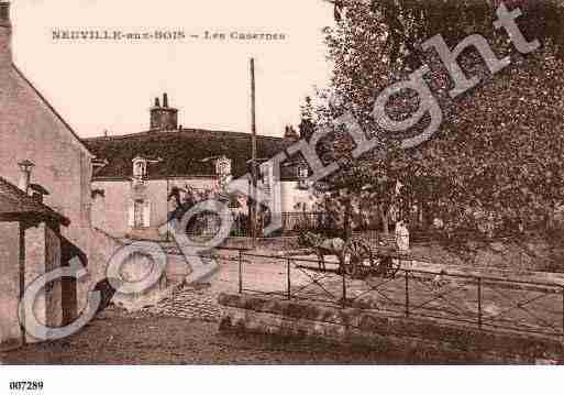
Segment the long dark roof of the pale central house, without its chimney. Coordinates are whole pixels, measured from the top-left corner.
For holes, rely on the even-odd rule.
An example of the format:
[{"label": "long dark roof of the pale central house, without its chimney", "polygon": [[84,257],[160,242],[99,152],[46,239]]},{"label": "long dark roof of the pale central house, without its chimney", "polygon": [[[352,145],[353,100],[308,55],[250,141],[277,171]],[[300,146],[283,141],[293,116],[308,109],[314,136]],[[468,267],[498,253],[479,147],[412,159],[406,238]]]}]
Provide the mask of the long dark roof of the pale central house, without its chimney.
[{"label": "long dark roof of the pale central house, without its chimney", "polygon": [[[148,165],[150,178],[214,177],[213,158],[222,155],[231,158],[232,174],[240,177],[247,173],[251,160],[251,134],[240,132],[183,129],[85,139],[84,142],[98,158],[109,162],[96,172],[95,179],[131,177],[132,161],[136,156],[163,160]],[[288,140],[259,135],[257,156],[270,158],[289,144]],[[281,167],[281,172],[283,178],[295,174],[289,167]]]}]

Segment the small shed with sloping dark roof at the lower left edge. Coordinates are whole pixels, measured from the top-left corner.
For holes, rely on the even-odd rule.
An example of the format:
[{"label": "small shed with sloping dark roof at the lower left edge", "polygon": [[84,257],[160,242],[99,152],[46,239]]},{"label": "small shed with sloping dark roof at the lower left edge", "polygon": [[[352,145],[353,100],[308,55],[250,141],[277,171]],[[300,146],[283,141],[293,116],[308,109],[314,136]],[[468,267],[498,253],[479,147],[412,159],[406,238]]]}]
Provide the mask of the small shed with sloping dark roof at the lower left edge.
[{"label": "small shed with sloping dark roof at the lower left edge", "polygon": [[[3,349],[35,341],[24,336],[14,312],[26,285],[68,262],[63,257],[68,241],[60,230],[69,223],[36,197],[0,177],[0,344]],[[75,282],[65,277],[52,283],[35,300],[34,312],[49,327],[73,321],[77,314]]]}]

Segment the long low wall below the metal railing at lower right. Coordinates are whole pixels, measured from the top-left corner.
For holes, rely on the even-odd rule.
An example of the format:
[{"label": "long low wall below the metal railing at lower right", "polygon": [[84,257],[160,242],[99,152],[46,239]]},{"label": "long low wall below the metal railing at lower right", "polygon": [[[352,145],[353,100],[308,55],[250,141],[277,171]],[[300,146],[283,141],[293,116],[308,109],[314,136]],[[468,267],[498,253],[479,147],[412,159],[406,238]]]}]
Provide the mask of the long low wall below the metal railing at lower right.
[{"label": "long low wall below the metal railing at lower right", "polygon": [[468,360],[484,363],[563,362],[563,344],[550,338],[488,332],[433,320],[251,295],[221,294],[219,303],[223,308],[222,330],[312,337],[369,348],[392,343],[413,350],[423,348],[440,355],[464,353]]}]

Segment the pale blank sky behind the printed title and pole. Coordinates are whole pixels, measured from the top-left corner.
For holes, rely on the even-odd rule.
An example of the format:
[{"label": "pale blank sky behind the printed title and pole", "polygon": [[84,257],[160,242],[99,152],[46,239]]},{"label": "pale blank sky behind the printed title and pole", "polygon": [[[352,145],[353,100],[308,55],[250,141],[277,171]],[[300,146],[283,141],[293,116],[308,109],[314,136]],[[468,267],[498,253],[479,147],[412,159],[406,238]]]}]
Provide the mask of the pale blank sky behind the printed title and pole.
[{"label": "pale blank sky behind the printed title and pole", "polygon": [[[299,106],[328,85],[323,0],[12,0],[13,56],[81,138],[148,129],[167,92],[185,128],[248,132],[248,59],[255,58],[257,131],[281,135]],[[199,35],[179,41],[62,41],[53,31]],[[204,40],[203,34],[284,33],[284,41]]]}]

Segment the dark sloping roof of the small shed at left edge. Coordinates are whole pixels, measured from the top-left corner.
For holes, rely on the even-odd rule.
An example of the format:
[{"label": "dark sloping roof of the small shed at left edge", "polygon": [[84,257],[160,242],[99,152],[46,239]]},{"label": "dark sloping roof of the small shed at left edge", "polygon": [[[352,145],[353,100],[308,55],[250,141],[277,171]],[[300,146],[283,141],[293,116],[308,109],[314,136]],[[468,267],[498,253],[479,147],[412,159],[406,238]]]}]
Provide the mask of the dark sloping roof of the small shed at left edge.
[{"label": "dark sloping roof of the small shed at left edge", "polygon": [[64,226],[70,223],[68,218],[25,195],[20,188],[0,177],[0,217],[19,218],[26,215],[55,220]]}]

